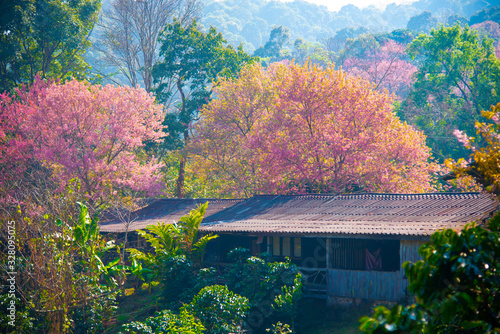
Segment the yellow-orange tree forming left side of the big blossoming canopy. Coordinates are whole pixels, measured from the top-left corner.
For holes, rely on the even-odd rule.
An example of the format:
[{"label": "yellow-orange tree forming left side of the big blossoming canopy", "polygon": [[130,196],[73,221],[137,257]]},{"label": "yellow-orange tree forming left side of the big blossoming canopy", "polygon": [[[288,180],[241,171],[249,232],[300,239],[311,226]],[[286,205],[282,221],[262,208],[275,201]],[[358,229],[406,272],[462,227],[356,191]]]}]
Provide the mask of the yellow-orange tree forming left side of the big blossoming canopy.
[{"label": "yellow-orange tree forming left side of the big blossoming canopy", "polygon": [[[275,65],[276,66],[276,65]],[[248,146],[257,119],[273,103],[272,78],[247,66],[239,79],[221,79],[196,126],[189,151],[200,177],[218,183],[222,196],[251,196],[259,188],[258,161]]]}]

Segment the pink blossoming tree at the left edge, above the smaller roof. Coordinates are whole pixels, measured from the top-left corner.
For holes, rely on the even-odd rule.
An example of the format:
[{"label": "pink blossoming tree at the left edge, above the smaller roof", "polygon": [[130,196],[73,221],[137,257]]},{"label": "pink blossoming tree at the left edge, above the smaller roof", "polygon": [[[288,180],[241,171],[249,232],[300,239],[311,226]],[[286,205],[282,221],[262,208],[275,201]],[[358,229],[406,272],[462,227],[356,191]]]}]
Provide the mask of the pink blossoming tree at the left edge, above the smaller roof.
[{"label": "pink blossoming tree at the left edge, above the smaller roof", "polygon": [[37,80],[1,99],[2,190],[33,164],[59,189],[77,178],[96,205],[124,189],[162,190],[161,164],[143,150],[161,136],[161,108],[144,90]]}]

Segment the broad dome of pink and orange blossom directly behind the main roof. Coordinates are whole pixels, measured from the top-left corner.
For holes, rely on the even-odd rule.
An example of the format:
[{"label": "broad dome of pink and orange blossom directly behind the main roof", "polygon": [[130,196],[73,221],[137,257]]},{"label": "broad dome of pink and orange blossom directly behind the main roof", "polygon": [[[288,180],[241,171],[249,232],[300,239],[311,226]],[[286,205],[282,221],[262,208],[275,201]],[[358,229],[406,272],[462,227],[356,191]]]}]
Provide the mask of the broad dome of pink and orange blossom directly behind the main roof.
[{"label": "broad dome of pink and orange blossom directly behind the main roof", "polygon": [[228,180],[227,194],[431,189],[425,137],[366,80],[309,63],[255,65],[216,95],[191,150],[201,172]]}]

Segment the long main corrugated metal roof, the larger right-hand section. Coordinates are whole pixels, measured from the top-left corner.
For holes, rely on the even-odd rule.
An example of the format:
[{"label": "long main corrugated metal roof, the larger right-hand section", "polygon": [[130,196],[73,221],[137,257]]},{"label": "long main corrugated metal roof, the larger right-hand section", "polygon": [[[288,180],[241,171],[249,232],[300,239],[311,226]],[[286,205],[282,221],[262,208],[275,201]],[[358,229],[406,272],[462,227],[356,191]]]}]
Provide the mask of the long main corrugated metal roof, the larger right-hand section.
[{"label": "long main corrugated metal roof, the larger right-hand section", "polygon": [[262,195],[206,217],[200,230],[428,236],[462,229],[498,207],[486,193]]}]

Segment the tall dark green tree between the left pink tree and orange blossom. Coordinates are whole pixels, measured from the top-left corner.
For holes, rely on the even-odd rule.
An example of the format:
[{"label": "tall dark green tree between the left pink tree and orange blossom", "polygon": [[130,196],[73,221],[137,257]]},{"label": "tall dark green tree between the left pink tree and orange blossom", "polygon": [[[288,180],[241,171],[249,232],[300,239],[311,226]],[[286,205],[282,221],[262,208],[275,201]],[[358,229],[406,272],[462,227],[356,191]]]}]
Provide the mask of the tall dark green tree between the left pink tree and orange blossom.
[{"label": "tall dark green tree between the left pink tree and orange blossom", "polygon": [[[168,24],[160,37],[160,56],[153,67],[154,92],[166,105],[164,125],[168,136],[158,148],[160,154],[181,150],[189,141],[189,126],[199,117],[201,107],[212,97],[214,82],[220,77],[235,76],[243,64],[253,61],[240,46],[228,45],[213,27],[207,33],[196,21],[187,27],[181,22]],[[176,185],[176,196],[184,197],[187,155],[182,153]]]}]

